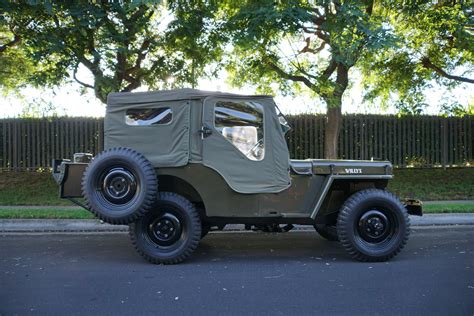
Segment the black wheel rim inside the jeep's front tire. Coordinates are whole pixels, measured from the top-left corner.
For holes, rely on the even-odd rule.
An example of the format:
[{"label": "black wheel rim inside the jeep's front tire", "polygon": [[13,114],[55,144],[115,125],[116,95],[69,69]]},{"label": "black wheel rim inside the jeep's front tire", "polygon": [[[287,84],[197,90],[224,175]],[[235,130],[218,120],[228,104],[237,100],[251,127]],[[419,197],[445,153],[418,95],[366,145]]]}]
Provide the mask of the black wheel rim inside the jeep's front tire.
[{"label": "black wheel rim inside the jeep's front tire", "polygon": [[364,212],[358,222],[356,232],[359,238],[369,244],[388,242],[395,234],[393,215],[386,210],[372,209]]}]

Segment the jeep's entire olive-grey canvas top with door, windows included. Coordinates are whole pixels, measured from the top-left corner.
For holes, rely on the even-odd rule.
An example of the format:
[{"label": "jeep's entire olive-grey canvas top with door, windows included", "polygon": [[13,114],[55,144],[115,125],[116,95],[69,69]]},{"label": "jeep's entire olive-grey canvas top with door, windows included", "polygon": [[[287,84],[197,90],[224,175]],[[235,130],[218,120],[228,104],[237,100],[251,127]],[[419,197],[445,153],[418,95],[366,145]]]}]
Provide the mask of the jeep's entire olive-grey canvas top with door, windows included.
[{"label": "jeep's entire olive-grey canvas top with door, windows included", "polygon": [[[160,122],[157,114],[159,119],[149,124],[127,121],[129,115],[142,121],[137,118],[154,109],[163,109],[156,113],[166,113],[163,117],[169,120]],[[204,137],[200,131],[205,128],[211,132]],[[104,146],[132,148],[155,168],[203,164],[239,193],[278,193],[291,184],[288,149],[271,96],[195,89],[113,93],[104,120]],[[260,158],[249,158],[260,146]]]}]

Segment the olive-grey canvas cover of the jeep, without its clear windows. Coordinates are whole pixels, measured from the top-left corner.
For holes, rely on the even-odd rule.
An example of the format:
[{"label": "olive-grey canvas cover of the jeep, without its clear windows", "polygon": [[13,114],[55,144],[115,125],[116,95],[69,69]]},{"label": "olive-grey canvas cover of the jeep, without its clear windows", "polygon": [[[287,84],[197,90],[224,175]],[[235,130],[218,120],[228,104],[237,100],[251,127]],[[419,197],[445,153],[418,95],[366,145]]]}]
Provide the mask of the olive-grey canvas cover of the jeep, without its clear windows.
[{"label": "olive-grey canvas cover of the jeep, without its clear windows", "polygon": [[[265,158],[252,161],[214,130],[202,137],[203,126],[214,127],[218,101],[258,100],[265,108]],[[172,119],[166,124],[128,125],[126,113],[133,109],[167,108]],[[202,163],[217,171],[239,193],[277,193],[290,185],[289,156],[275,103],[267,95],[178,89],[112,93],[104,120],[104,147],[128,147],[142,153],[155,168],[183,167]]]}]

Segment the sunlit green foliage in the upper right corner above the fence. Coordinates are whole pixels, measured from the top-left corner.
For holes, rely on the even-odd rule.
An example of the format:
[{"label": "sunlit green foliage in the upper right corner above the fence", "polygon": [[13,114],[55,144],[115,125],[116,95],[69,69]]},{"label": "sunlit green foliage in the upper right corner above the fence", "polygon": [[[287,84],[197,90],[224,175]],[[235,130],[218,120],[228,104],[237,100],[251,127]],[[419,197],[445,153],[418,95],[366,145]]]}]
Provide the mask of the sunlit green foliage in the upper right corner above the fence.
[{"label": "sunlit green foliage in the upper right corner above the fence", "polygon": [[404,112],[425,106],[422,92],[433,82],[448,88],[474,83],[468,78],[474,73],[472,1],[420,0],[400,5],[387,0],[381,2],[380,11],[396,45],[361,63],[366,100],[387,105],[397,98],[396,105]]}]

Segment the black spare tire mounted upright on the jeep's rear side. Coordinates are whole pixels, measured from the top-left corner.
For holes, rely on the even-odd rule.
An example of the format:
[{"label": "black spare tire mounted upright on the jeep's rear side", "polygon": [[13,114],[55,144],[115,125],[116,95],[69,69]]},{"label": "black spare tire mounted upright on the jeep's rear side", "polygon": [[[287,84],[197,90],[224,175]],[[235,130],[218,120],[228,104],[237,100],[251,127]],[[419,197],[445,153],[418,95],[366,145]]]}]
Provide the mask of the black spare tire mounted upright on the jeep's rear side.
[{"label": "black spare tire mounted upright on the jeep's rear side", "polygon": [[158,180],[151,163],[130,148],[116,147],[97,155],[82,177],[89,209],[104,222],[129,224],[156,201]]}]

